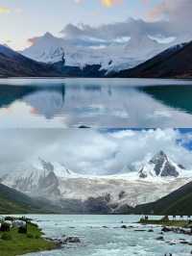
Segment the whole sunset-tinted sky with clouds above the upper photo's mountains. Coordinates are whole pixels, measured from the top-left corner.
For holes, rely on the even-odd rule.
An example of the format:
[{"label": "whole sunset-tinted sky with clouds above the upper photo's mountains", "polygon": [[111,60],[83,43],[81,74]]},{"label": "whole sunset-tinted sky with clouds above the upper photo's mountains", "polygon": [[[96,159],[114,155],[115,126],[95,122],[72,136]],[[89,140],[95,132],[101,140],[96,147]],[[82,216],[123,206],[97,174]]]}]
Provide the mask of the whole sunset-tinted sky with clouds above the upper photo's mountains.
[{"label": "whole sunset-tinted sky with clouds above the upper photo's mountains", "polygon": [[[191,0],[57,0],[49,4],[47,0],[0,0],[0,41],[21,49],[28,45],[28,38],[47,31],[60,37],[71,36],[77,27],[86,34],[87,30],[98,33],[104,24],[110,35],[117,29],[124,35],[130,17],[152,22],[159,37],[176,36],[176,31],[189,33],[191,12]],[[159,20],[167,20],[169,25]],[[141,31],[145,30],[142,26]]]}]

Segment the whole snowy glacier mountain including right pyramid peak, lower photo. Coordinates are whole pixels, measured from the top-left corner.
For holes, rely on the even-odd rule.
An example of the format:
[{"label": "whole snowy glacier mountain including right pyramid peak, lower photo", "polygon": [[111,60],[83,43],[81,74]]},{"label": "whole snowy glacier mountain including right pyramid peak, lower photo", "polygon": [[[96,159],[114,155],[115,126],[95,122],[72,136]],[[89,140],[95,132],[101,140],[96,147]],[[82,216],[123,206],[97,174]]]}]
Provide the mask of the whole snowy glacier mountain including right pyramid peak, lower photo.
[{"label": "whole snowy glacier mountain including right pyramid peak, lower photo", "polygon": [[124,206],[154,202],[178,190],[191,180],[184,173],[183,166],[160,151],[137,172],[87,176],[39,159],[34,166],[19,166],[1,181],[33,198],[50,200],[63,213],[121,213]]}]

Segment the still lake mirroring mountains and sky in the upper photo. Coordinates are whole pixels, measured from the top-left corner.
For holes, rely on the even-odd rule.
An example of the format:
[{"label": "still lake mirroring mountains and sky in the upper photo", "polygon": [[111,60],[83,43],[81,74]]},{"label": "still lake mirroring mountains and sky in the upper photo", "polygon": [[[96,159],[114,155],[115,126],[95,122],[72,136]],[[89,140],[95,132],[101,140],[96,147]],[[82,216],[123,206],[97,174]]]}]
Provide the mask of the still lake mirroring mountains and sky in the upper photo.
[{"label": "still lake mirroring mountains and sky in the upper photo", "polygon": [[192,81],[1,79],[0,128],[192,127]]}]

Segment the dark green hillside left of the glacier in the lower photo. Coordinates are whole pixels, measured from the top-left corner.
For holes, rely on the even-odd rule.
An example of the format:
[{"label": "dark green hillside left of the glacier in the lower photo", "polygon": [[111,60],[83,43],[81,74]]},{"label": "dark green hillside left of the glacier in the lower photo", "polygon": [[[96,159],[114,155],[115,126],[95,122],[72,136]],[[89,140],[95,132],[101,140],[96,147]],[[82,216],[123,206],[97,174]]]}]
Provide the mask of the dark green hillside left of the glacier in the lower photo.
[{"label": "dark green hillside left of the glacier in the lower photo", "polygon": [[60,213],[59,207],[44,199],[32,199],[0,184],[0,214],[48,214]]}]

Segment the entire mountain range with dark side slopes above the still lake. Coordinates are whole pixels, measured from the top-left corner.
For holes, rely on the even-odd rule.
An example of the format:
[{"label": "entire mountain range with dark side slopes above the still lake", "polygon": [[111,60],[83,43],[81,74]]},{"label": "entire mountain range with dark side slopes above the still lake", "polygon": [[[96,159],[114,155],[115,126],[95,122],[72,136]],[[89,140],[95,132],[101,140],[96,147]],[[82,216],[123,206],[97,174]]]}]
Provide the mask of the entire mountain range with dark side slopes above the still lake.
[{"label": "entire mountain range with dark side slopes above the still lake", "polygon": [[146,35],[95,49],[47,33],[20,53],[0,45],[0,77],[190,78],[191,53],[192,42],[159,43]]}]

